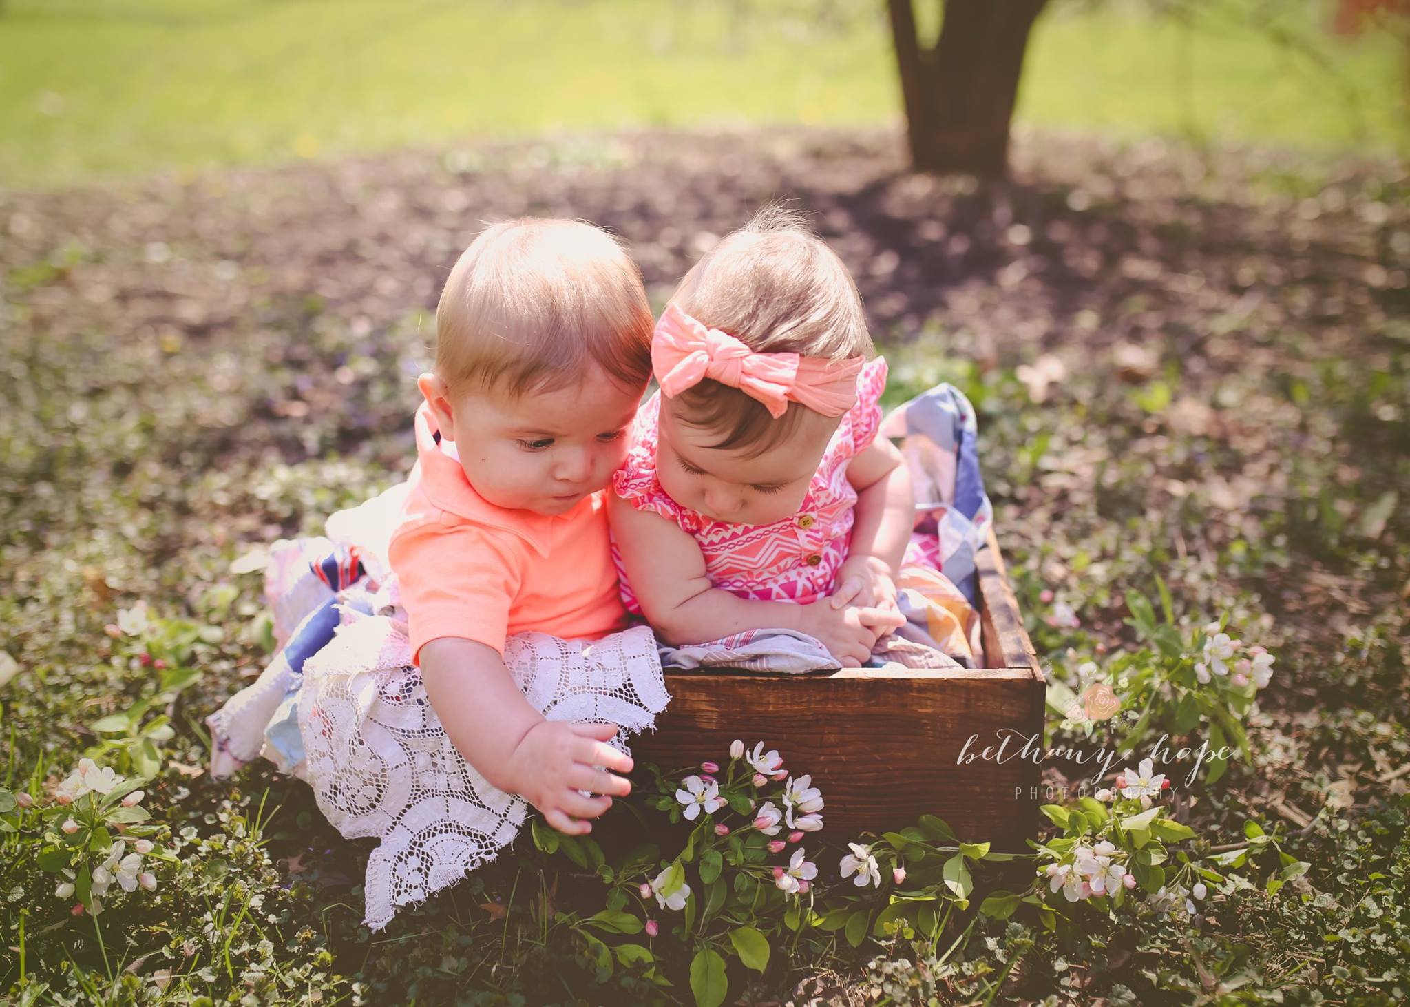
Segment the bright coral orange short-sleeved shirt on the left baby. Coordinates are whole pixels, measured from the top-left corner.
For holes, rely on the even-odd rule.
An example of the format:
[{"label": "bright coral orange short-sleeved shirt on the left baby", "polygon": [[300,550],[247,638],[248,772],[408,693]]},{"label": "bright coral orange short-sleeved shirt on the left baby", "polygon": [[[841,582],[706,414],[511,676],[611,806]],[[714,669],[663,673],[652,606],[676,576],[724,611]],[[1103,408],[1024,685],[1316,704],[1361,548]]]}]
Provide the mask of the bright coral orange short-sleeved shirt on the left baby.
[{"label": "bright coral orange short-sleeved shirt on the left baby", "polygon": [[595,639],[626,626],[602,492],[563,515],[495,506],[441,450],[430,406],[416,410],[416,467],[388,560],[413,660],[441,636],[485,643],[539,630]]}]

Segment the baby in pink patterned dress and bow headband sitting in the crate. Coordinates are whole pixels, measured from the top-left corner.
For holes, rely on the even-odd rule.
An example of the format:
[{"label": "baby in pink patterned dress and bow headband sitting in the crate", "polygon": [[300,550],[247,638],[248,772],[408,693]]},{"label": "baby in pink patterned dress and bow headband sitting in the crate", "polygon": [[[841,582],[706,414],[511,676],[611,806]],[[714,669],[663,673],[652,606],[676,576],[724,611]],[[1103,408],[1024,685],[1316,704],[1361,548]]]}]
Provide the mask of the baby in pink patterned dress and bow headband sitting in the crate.
[{"label": "baby in pink patterned dress and bow headband sitting in the crate", "polygon": [[915,504],[885,361],[836,254],[770,209],[681,282],[608,512],[627,608],[673,645],[794,629],[859,667],[905,618]]}]

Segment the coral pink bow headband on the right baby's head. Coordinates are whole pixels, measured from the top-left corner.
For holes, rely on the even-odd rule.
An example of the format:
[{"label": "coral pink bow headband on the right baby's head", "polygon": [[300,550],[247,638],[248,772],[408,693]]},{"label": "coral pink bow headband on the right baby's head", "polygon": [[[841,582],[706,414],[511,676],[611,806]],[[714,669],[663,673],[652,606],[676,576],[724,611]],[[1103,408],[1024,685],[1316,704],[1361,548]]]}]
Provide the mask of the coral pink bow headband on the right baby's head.
[{"label": "coral pink bow headband on the right baby's head", "polygon": [[709,329],[667,305],[651,337],[651,370],[666,398],[705,378],[759,399],[778,419],[797,402],[823,416],[842,416],[857,402],[862,358],[822,360],[797,353],[754,353],[719,329]]}]

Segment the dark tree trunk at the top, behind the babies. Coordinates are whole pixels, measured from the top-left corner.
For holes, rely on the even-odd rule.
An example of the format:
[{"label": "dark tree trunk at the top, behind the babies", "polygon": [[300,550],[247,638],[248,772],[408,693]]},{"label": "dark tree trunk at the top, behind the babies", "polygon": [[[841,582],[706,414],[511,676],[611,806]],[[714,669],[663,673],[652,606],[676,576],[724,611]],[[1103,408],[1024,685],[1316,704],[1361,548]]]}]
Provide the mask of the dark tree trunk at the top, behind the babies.
[{"label": "dark tree trunk at the top, behind the babies", "polygon": [[916,171],[1003,176],[1024,51],[1048,0],[942,0],[935,45],[922,48],[912,0],[887,0]]}]

